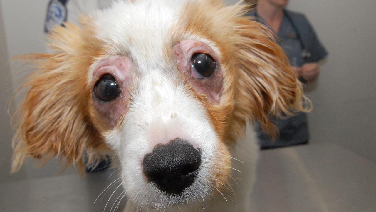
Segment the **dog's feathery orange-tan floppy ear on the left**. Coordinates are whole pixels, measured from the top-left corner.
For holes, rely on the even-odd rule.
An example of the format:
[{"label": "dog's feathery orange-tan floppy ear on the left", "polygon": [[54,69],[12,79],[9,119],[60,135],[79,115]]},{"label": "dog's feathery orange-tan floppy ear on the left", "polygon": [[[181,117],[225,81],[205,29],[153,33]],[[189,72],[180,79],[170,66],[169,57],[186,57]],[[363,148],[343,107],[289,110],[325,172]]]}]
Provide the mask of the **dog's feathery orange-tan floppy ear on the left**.
[{"label": "dog's feathery orange-tan floppy ear on the left", "polygon": [[100,54],[98,41],[84,37],[90,33],[82,30],[69,23],[59,26],[49,35],[56,53],[16,58],[36,71],[21,86],[27,92],[14,115],[12,172],[26,157],[45,162],[57,155],[82,168],[85,151],[91,156],[106,148],[86,114],[91,96],[86,75],[92,58]]}]

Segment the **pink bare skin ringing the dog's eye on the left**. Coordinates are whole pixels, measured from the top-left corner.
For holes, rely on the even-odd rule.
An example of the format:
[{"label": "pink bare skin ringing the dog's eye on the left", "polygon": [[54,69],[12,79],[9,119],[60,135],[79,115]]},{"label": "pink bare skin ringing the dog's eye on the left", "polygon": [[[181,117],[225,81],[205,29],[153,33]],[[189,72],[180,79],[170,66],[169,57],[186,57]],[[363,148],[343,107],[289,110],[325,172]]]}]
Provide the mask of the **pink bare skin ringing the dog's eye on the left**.
[{"label": "pink bare skin ringing the dog's eye on the left", "polygon": [[98,81],[104,75],[111,74],[120,88],[120,96],[109,102],[101,102],[93,94],[94,108],[110,128],[115,128],[118,120],[126,112],[126,100],[129,96],[133,67],[134,65],[128,57],[115,55],[101,61],[93,72],[94,81]]}]

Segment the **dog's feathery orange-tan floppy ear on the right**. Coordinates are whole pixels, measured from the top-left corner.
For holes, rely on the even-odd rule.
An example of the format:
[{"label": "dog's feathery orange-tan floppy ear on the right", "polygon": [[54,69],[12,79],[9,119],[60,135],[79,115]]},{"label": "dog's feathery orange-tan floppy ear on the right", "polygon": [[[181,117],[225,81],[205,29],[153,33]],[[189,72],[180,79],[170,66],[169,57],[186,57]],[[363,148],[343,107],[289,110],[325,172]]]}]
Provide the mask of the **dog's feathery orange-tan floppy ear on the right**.
[{"label": "dog's feathery orange-tan floppy ear on the right", "polygon": [[271,117],[307,111],[302,84],[267,27],[250,17],[238,17],[234,30],[238,75],[230,132],[241,134],[250,119],[260,121],[262,129],[274,137]]}]

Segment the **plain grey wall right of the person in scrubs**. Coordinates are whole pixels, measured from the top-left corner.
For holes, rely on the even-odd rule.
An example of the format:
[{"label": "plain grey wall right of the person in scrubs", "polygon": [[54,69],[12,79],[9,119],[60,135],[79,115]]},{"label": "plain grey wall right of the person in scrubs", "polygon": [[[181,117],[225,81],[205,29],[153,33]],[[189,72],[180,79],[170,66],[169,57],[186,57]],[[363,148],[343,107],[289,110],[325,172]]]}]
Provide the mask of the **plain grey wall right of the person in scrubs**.
[{"label": "plain grey wall right of the person in scrubs", "polygon": [[312,143],[333,142],[376,161],[376,1],[290,0],[329,55],[306,94]]}]

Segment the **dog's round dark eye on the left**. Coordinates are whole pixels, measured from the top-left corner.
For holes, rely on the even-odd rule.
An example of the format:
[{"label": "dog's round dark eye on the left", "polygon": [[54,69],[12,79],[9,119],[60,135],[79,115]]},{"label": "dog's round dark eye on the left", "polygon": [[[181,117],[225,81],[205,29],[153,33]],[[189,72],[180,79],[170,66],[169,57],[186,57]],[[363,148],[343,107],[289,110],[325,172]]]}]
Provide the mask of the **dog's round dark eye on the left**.
[{"label": "dog's round dark eye on the left", "polygon": [[97,100],[108,102],[120,95],[120,88],[115,78],[107,74],[97,81],[94,86],[93,94]]}]

